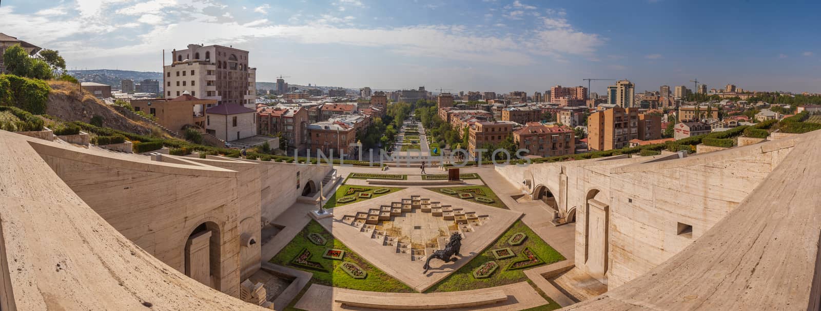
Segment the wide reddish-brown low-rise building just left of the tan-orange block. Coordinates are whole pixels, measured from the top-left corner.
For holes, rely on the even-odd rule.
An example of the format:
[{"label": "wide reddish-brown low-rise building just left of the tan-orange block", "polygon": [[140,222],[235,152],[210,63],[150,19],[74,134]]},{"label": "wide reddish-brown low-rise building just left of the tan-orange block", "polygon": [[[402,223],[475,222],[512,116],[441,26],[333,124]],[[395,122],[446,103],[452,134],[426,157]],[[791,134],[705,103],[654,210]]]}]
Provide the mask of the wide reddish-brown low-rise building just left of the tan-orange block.
[{"label": "wide reddish-brown low-rise building just left of the tan-orange block", "polygon": [[576,146],[574,131],[567,126],[548,126],[530,122],[513,131],[513,141],[519,149],[529,150],[529,155],[553,157],[573,154]]}]

